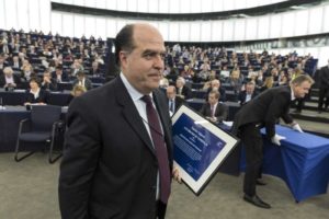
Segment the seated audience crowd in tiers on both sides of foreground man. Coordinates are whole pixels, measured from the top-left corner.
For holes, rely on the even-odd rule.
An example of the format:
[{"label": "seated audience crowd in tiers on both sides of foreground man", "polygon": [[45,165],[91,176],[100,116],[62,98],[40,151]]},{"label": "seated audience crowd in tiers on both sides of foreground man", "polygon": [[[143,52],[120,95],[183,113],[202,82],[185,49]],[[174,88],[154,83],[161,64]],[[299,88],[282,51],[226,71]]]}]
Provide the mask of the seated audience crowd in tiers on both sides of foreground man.
[{"label": "seated audience crowd in tiers on both sides of foreground man", "polygon": [[[36,31],[24,33],[22,30],[19,32],[0,30],[0,38],[2,39],[0,46],[2,88],[7,84],[5,81],[12,81],[10,73],[8,80],[4,78],[5,67],[11,67],[13,70],[14,88],[19,89],[25,88],[31,78],[39,77],[43,79],[42,88],[49,91],[56,91],[55,84],[63,82],[82,84],[89,90],[92,88],[89,77],[91,79],[104,77],[103,57],[105,57],[106,44],[100,38],[94,39],[92,36],[89,39],[86,36],[70,38],[52,33],[45,35]],[[302,57],[296,53],[285,56],[269,54],[265,50],[261,54],[236,53],[224,47],[203,49],[179,44],[167,46],[166,51],[164,78],[161,80],[163,82],[161,85],[163,88],[175,85],[177,95],[184,100],[194,97],[190,89],[191,83],[204,84],[198,88],[202,90],[204,87],[206,99],[211,91],[219,91],[219,101],[226,102],[231,101],[226,99],[226,90],[235,91],[238,97],[248,81],[253,81],[256,92],[287,84],[299,73],[313,73],[311,65],[316,62],[310,55]],[[44,76],[44,72],[49,72],[52,78],[49,79],[48,73]]]}]

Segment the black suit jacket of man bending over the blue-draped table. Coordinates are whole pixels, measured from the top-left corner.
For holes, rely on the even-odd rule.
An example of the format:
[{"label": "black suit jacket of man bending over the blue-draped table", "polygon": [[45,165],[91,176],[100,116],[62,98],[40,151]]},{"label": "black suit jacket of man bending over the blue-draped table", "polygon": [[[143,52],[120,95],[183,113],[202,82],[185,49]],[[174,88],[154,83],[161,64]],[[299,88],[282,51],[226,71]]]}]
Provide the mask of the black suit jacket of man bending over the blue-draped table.
[{"label": "black suit jacket of man bending over the blue-draped table", "polygon": [[282,117],[285,123],[292,123],[290,116],[291,88],[288,85],[276,87],[264,91],[236,114],[232,134],[237,135],[239,127],[246,124],[261,124],[266,128],[269,138],[275,135],[275,122]]}]

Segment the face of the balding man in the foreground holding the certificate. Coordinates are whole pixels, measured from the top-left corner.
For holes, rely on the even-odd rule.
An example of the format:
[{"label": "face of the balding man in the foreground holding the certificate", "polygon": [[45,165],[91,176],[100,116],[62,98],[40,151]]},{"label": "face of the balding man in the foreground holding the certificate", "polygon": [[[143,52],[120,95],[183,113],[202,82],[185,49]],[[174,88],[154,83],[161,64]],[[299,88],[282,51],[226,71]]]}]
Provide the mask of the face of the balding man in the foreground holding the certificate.
[{"label": "face of the balding man in the foreground holding the certificate", "polygon": [[149,94],[159,88],[164,69],[164,44],[161,35],[148,25],[134,27],[133,51],[121,51],[122,71],[129,83],[140,93]]}]

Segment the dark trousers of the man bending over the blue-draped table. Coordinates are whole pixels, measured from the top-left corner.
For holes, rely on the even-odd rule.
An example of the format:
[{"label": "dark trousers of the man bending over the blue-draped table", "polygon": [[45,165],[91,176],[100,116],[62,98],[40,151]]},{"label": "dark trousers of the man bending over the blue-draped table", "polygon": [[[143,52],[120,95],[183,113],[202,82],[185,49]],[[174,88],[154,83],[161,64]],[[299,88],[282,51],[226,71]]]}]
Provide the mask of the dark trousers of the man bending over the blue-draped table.
[{"label": "dark trousers of the man bending over the blue-draped table", "polygon": [[246,174],[243,192],[249,196],[256,195],[256,181],[259,177],[263,161],[263,140],[256,124],[240,127],[239,137],[246,151]]}]

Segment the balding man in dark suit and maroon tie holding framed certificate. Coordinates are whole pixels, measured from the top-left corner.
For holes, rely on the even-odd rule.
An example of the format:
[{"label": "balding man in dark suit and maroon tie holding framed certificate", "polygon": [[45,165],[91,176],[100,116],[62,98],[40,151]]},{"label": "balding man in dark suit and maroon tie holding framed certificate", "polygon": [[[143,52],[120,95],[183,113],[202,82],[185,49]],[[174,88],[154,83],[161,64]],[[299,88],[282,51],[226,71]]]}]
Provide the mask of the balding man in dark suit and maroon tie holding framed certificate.
[{"label": "balding man in dark suit and maroon tie holding framed certificate", "polygon": [[59,176],[64,219],[164,218],[171,173],[180,180],[158,90],[164,54],[155,27],[126,25],[115,38],[120,76],[71,102]]}]

